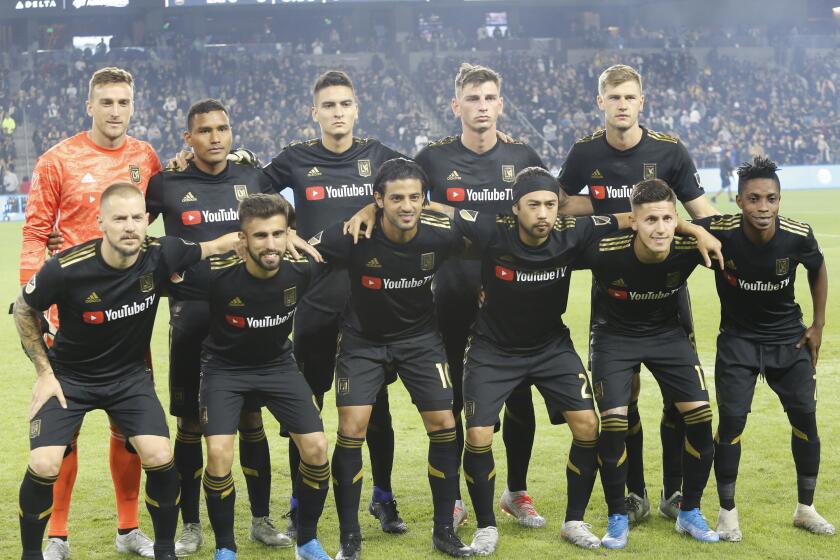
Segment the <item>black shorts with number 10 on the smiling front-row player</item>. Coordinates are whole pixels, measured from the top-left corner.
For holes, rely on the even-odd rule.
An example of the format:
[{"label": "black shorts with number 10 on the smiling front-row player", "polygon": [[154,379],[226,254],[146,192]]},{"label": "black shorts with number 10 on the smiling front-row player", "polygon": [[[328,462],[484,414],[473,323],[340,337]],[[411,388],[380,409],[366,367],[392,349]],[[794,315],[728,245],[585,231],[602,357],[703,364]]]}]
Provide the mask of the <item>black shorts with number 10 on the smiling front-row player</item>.
[{"label": "black shorts with number 10 on the smiling front-row player", "polygon": [[438,333],[389,344],[344,332],[335,365],[336,406],[376,402],[376,394],[395,371],[420,412],[452,408],[452,381]]}]

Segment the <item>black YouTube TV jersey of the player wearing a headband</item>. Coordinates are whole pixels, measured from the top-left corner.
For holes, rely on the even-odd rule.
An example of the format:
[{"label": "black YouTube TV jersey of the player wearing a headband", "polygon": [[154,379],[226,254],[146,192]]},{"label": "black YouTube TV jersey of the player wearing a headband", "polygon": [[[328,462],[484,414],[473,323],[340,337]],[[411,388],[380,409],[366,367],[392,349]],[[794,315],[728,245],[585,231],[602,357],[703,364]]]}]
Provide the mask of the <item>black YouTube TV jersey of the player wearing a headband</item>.
[{"label": "black YouTube TV jersey of the player wearing a headband", "polygon": [[559,216],[548,239],[529,247],[520,240],[513,216],[461,210],[456,225],[482,257],[485,299],[473,334],[517,353],[568,337],[562,315],[571,263],[590,242],[616,229],[611,216]]}]

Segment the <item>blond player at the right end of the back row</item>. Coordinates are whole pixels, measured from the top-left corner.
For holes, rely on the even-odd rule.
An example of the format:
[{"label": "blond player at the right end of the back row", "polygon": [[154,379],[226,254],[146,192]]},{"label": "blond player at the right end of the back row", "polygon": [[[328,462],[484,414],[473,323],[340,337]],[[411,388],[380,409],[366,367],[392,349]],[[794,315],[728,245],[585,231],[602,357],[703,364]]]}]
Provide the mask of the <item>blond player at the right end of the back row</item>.
[{"label": "blond player at the right end of the back row", "polygon": [[[699,175],[685,146],[675,137],[639,125],[644,108],[642,77],[623,64],[604,70],[598,78],[598,109],[604,113],[604,130],[575,142],[560,172],[560,183],[570,195],[589,188],[590,212],[608,214],[630,211],[630,191],[646,179],[663,179],[670,185],[692,218],[718,214],[704,196]],[[586,202],[574,197],[576,203]],[[576,212],[577,213],[577,212]],[[594,291],[594,285],[593,285]],[[594,307],[594,306],[593,306]],[[680,319],[694,337],[688,292],[680,296]],[[627,496],[630,521],[650,513],[645,489],[642,424],[637,403],[639,382],[634,380],[627,434]],[[659,511],[676,519],[681,497],[680,449],[684,427],[679,412],[666,403],[660,437],[662,440],[663,489]]]}]

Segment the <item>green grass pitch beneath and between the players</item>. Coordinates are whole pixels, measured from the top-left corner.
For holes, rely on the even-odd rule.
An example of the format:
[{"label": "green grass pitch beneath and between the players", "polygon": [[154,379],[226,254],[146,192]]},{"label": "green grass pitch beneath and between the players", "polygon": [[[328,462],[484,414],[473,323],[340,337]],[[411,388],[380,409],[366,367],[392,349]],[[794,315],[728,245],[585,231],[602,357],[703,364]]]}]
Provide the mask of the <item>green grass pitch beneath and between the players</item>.
[{"label": "green grass pitch beneath and between the players", "polygon": [[[737,211],[734,204],[721,204],[723,212]],[[840,191],[791,191],[784,193],[782,214],[810,223],[820,240],[833,279],[840,274]],[[0,284],[0,301],[11,302],[17,295],[17,263],[20,250],[20,223],[0,224],[0,262],[7,263],[3,271],[5,281]],[[160,233],[159,225],[153,232]],[[572,330],[575,344],[581,355],[586,352],[586,329],[589,317],[589,273],[576,273],[572,279],[569,310],[566,322]],[[690,280],[694,305],[694,317],[700,358],[707,375],[710,394],[714,403],[714,341],[719,317],[718,299],[714,291],[712,274],[698,269]],[[810,320],[811,305],[807,280],[800,269],[797,295],[806,320]],[[840,317],[838,296],[832,293],[828,301],[828,320],[823,338],[820,365],[818,367],[819,407],[818,422],[822,440],[822,465],[816,494],[818,510],[835,525],[840,523],[840,412],[836,410],[836,399],[840,396]],[[161,305],[157,329],[153,339],[153,356],[156,366],[158,394],[164,403],[167,394],[167,306]],[[11,316],[0,323],[0,355],[3,356],[2,380],[6,391],[0,407],[0,425],[3,428],[3,468],[0,469],[0,504],[2,524],[0,543],[3,543],[2,558],[19,557],[19,533],[17,522],[18,487],[26,468],[28,453],[27,410],[33,383],[33,368],[21,351]],[[404,536],[389,536],[382,533],[376,521],[365,511],[360,513],[363,545],[367,559],[376,558],[442,558],[431,551],[430,519],[431,500],[426,479],[427,438],[420,418],[411,405],[407,393],[400,383],[391,386],[391,410],[397,438],[396,464],[394,465],[394,489],[400,511],[408,522],[409,532]],[[537,437],[529,474],[529,491],[540,513],[547,519],[544,529],[520,528],[503,514],[498,514],[501,539],[496,556],[499,558],[532,558],[562,556],[569,558],[591,558],[593,556],[622,557],[638,554],[645,558],[716,558],[719,555],[733,555],[739,558],[840,558],[840,537],[818,537],[795,529],[792,514],[796,505],[796,484],[793,460],[790,455],[790,428],[781,405],[764,383],[759,383],[753,412],[750,415],[743,440],[743,458],[738,479],[738,509],[741,514],[741,528],[744,540],[739,544],[721,542],[716,545],[702,545],[690,538],[677,535],[673,524],[662,517],[652,515],[643,524],[631,531],[630,544],[626,551],[607,552],[604,549],[590,552],[578,550],[560,539],[560,526],[565,511],[565,462],[571,436],[565,426],[551,426],[542,405],[542,399],[535,391],[538,413]],[[330,449],[335,441],[336,414],[333,395],[329,394],[324,408],[324,422]],[[713,404],[714,407],[714,404]],[[640,408],[645,430],[646,478],[649,492],[658,495],[661,487],[659,417],[661,397],[652,376],[642,376]],[[170,422],[174,434],[174,422]],[[289,468],[287,464],[287,440],[277,435],[277,424],[266,414],[266,431],[269,434],[273,461],[272,515],[281,525],[281,515],[287,509],[289,492]],[[106,417],[101,412],[88,416],[79,440],[79,475],[73,495],[70,513],[70,542],[76,559],[99,560],[117,558],[113,539],[116,528],[113,489],[108,470],[108,430]],[[506,466],[501,436],[495,439],[494,450],[498,468],[496,498],[504,488]],[[331,453],[332,451],[330,451]],[[371,491],[369,468],[365,451],[366,480],[363,491],[363,507]],[[238,466],[234,466],[236,484],[239,488],[237,502],[236,535],[239,541],[240,558],[290,559],[293,550],[270,550],[257,546],[247,539],[249,511],[247,493]],[[466,489],[462,481],[466,496]],[[141,490],[142,492],[142,490]],[[655,501],[652,499],[652,501]],[[714,473],[706,489],[703,511],[710,524],[717,519],[717,495]],[[212,557],[213,535],[205,520],[205,546],[195,557]],[[587,512],[587,521],[593,531],[603,535],[606,530],[606,508],[600,480]],[[152,534],[151,523],[141,505],[141,526]],[[475,524],[472,519],[462,528],[461,536],[469,542]],[[335,553],[338,545],[338,527],[332,492],[327,499],[324,516],[321,519],[320,537],[328,552]]]}]

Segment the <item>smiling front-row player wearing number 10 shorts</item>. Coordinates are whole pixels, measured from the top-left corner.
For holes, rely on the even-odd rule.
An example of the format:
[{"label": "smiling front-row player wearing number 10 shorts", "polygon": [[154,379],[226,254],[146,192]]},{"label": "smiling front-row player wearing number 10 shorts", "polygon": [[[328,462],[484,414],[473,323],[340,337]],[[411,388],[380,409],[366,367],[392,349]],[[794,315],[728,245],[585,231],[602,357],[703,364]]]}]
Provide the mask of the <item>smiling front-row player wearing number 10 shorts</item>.
[{"label": "smiling front-row player wearing number 10 shorts", "polygon": [[339,560],[361,557],[361,447],[388,370],[399,372],[429,436],[432,546],[450,556],[472,554],[452,528],[458,449],[452,382],[431,288],[441,263],[460,253],[463,243],[451,220],[423,210],[428,187],[416,163],[388,161],[373,183],[379,212],[370,239],[354,245],[338,223],[310,241],[328,261],[347,268],[350,278],[335,369],[339,427],[332,476],[341,528]]}]

